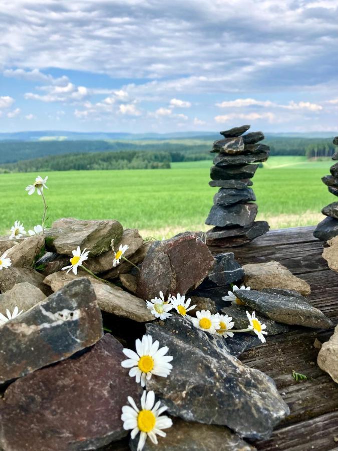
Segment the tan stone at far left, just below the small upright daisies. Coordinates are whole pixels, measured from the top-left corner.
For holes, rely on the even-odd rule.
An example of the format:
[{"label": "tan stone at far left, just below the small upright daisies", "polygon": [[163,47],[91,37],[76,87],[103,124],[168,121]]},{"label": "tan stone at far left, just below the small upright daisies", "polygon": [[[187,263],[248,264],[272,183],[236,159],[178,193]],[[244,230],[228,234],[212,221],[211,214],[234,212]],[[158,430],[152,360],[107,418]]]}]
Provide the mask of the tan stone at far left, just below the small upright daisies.
[{"label": "tan stone at far left, just below the small upright daisies", "polygon": [[7,257],[11,259],[12,266],[31,267],[44,244],[45,238],[42,235],[33,235],[9,249]]}]

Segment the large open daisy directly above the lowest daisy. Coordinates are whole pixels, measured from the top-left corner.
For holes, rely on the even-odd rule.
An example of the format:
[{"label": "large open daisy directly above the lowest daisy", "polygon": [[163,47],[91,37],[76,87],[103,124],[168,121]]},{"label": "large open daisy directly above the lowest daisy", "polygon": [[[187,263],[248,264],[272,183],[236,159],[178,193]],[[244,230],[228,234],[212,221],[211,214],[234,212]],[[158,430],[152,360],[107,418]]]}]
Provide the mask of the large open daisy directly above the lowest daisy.
[{"label": "large open daisy directly above the lowest daisy", "polygon": [[129,357],[123,360],[121,365],[124,368],[130,368],[129,376],[136,377],[136,382],[144,387],[146,380],[149,380],[152,374],[155,376],[167,377],[172,369],[173,357],[165,355],[168,352],[168,347],[159,348],[159,342],[156,340],[153,343],[151,335],[143,335],[142,341],[138,338],[135,342],[136,352],[131,349],[123,349],[123,353]]}]

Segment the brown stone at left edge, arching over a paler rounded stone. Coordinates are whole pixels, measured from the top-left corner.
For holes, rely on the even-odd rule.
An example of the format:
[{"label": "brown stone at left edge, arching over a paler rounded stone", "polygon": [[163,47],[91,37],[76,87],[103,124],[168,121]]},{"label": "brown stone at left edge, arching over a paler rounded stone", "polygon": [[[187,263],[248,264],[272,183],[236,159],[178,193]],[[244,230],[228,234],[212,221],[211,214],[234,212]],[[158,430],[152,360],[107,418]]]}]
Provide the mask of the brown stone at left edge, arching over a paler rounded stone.
[{"label": "brown stone at left edge, arching over a paler rounded stone", "polygon": [[15,268],[11,266],[6,271],[0,271],[0,290],[5,293],[11,290],[15,284],[29,282],[38,287],[45,295],[49,296],[52,291],[50,287],[44,284],[45,276],[35,271],[33,268]]}]

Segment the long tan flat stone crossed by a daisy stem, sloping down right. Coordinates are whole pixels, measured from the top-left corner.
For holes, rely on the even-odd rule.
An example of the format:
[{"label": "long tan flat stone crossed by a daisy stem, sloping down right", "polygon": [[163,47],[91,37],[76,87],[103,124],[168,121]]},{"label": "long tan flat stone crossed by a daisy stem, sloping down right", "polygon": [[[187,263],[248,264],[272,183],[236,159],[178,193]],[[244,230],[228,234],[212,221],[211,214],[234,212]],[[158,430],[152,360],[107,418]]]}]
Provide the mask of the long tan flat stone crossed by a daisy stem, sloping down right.
[{"label": "long tan flat stone crossed by a daisy stem, sloping down right", "polygon": [[[76,280],[79,276],[85,274],[84,271],[79,271],[78,276],[75,276],[74,274],[67,274],[64,271],[60,271],[59,273],[54,273],[46,277],[45,284],[49,285],[53,291],[58,291],[67,286],[72,280]],[[154,316],[147,309],[143,299],[139,299],[113,284],[105,284],[91,276],[87,278],[92,283],[96,300],[101,310],[138,322],[154,320]]]}]

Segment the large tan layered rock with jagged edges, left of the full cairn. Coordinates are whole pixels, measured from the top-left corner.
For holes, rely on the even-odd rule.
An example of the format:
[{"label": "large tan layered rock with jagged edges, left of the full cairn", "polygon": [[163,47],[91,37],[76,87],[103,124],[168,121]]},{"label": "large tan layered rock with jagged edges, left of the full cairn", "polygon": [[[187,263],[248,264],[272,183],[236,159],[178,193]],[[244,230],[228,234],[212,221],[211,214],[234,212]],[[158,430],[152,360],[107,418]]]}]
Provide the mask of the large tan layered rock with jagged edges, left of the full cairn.
[{"label": "large tan layered rock with jagged edges, left of the full cairn", "polygon": [[118,242],[123,233],[120,222],[111,220],[80,220],[71,217],[59,219],[46,231],[46,249],[73,256],[72,251],[80,246],[91,256],[110,249],[111,241]]}]

